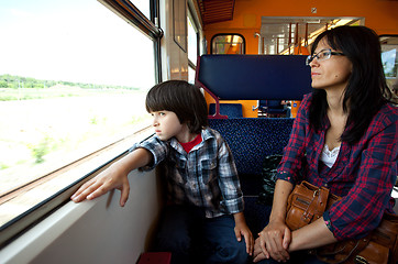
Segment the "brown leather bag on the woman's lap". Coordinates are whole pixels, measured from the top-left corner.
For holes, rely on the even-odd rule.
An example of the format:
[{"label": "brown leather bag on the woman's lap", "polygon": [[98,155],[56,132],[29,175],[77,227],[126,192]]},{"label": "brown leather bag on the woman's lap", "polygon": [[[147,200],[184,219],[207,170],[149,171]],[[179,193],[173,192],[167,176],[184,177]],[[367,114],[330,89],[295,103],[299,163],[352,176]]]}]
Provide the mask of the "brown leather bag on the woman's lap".
[{"label": "brown leather bag on the woman's lap", "polygon": [[[296,185],[288,198],[286,224],[291,231],[317,219],[341,197],[330,194],[325,187],[308,182]],[[396,264],[398,263],[398,216],[385,213],[380,224],[360,240],[346,240],[310,251],[323,262]]]}]

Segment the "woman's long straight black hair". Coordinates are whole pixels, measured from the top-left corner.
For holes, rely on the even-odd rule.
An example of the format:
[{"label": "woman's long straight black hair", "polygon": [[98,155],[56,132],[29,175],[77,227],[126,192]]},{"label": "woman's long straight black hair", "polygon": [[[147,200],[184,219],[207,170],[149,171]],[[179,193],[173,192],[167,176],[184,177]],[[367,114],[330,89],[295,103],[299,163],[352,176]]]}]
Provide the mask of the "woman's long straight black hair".
[{"label": "woman's long straight black hair", "polygon": [[[391,100],[384,75],[378,35],[366,26],[342,25],[324,31],[312,44],[311,55],[321,40],[342,52],[352,63],[352,74],[343,95],[343,110],[349,113],[341,141],[353,144],[365,133],[373,117]],[[328,110],[327,92],[314,89],[310,106],[310,123],[319,130]]]}]

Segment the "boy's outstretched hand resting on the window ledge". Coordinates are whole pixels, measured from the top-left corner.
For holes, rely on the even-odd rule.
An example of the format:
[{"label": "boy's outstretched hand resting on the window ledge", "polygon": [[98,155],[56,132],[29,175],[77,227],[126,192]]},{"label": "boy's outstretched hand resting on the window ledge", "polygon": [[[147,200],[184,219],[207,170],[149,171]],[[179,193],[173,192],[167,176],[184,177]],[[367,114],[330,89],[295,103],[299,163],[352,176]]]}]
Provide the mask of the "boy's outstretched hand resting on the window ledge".
[{"label": "boy's outstretched hand resting on the window ledge", "polygon": [[92,200],[114,188],[122,191],[120,206],[123,207],[128,201],[130,193],[128,174],[118,168],[118,166],[111,165],[98,176],[85,183],[70,199],[75,202],[80,202],[85,199]]}]

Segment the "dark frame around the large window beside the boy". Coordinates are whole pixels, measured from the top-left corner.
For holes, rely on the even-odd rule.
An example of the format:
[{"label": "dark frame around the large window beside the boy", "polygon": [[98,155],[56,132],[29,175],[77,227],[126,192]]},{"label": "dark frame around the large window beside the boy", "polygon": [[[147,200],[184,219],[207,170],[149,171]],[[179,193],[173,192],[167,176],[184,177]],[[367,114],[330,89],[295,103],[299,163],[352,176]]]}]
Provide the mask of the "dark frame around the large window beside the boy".
[{"label": "dark frame around the large window beside the boy", "polygon": [[[117,15],[125,20],[139,29],[143,34],[147,35],[154,43],[154,65],[155,65],[155,81],[162,81],[162,67],[161,67],[161,38],[163,31],[159,29],[159,2],[158,0],[151,0],[151,20],[147,19],[137,8],[134,7],[130,1],[118,1],[118,0],[98,0],[110,9]],[[101,150],[99,150],[101,151]],[[95,152],[96,153],[96,152]],[[88,179],[98,175],[101,170],[108,167],[111,163],[121,158],[128,153],[122,152],[110,161],[99,165],[90,173],[82,175],[82,177],[75,183],[64,187],[49,198],[41,201],[33,206],[27,211],[19,215],[11,221],[0,227],[0,249],[8,245],[14,239],[19,238],[23,232],[38,223],[41,220],[49,216],[52,212],[57,210],[59,207],[70,201],[70,196],[78,189],[78,187],[87,182]]]}]

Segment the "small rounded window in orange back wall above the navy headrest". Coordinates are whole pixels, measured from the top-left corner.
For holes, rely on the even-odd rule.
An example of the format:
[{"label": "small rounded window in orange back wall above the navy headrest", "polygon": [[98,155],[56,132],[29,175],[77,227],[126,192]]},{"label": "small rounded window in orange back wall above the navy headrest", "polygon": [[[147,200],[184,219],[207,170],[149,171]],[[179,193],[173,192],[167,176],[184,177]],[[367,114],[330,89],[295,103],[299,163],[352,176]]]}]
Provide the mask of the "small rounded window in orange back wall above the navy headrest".
[{"label": "small rounded window in orange back wall above the navy headrest", "polygon": [[245,40],[240,34],[218,34],[211,38],[211,54],[245,54]]}]

